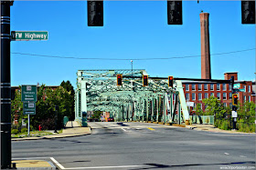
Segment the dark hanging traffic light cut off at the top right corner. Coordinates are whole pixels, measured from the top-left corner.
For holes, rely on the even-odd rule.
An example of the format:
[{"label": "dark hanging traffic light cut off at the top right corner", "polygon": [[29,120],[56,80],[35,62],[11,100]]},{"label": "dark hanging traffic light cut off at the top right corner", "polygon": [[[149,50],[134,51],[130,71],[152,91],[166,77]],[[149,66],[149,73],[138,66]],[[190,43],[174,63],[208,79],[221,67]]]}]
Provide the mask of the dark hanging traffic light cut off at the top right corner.
[{"label": "dark hanging traffic light cut off at the top right corner", "polygon": [[241,1],[241,24],[255,24],[255,0]]}]

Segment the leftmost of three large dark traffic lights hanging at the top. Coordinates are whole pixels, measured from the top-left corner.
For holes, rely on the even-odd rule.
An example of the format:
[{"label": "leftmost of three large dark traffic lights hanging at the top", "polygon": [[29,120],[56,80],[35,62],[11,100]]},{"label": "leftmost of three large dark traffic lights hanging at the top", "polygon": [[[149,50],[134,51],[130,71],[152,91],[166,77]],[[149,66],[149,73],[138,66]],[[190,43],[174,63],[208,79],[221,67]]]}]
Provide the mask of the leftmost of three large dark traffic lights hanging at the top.
[{"label": "leftmost of three large dark traffic lights hanging at the top", "polygon": [[103,26],[103,1],[87,1],[88,25]]}]

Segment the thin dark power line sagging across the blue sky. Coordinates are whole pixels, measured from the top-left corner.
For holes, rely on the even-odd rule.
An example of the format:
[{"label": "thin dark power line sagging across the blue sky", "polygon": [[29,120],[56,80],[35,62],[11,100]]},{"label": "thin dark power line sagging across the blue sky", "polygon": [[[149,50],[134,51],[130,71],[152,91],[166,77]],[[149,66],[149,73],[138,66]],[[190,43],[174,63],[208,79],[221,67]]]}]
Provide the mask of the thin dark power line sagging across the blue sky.
[{"label": "thin dark power line sagging across the blue sky", "polygon": [[[232,51],[232,52],[224,52],[219,54],[213,55],[228,55],[233,53],[240,53],[245,51],[255,50],[256,48],[245,49],[240,51]],[[50,57],[50,58],[63,58],[63,59],[77,59],[77,60],[170,60],[170,59],[178,59],[178,58],[192,58],[198,57],[201,55],[187,55],[187,56],[173,56],[173,57],[166,57],[166,58],[79,58],[74,56],[58,56],[58,55],[36,55],[36,54],[28,54],[28,53],[11,53],[13,55],[32,55],[32,56],[43,56],[43,57]]]}]

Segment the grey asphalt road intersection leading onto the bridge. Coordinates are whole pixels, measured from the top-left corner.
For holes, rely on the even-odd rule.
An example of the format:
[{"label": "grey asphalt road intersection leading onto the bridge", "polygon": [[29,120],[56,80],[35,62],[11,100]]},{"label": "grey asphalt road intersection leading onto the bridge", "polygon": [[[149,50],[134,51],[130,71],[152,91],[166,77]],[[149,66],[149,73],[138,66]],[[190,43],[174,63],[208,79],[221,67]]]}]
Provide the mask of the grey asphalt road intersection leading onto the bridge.
[{"label": "grey asphalt road intersection leading onto the bridge", "polygon": [[12,142],[12,157],[59,169],[255,169],[255,136],[146,123],[89,123],[91,135]]}]

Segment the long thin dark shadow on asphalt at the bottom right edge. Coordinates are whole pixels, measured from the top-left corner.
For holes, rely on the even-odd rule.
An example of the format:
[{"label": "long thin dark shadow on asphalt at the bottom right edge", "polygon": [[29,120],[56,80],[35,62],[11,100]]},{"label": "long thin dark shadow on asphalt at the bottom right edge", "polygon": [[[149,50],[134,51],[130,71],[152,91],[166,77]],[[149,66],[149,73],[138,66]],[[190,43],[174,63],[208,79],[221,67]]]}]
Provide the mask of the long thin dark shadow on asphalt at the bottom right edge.
[{"label": "long thin dark shadow on asphalt at the bottom right edge", "polygon": [[[157,169],[157,168],[192,168],[193,166],[198,166],[198,165],[247,165],[247,164],[252,164],[255,165],[255,161],[247,161],[247,162],[234,162],[234,163],[224,163],[224,164],[188,164],[188,165],[160,165],[160,164],[144,164],[144,165],[151,165],[152,167],[144,167],[144,168],[133,168],[131,170],[140,170],[140,169]],[[204,169],[204,168],[201,168]],[[205,169],[208,169],[207,167]]]}]

